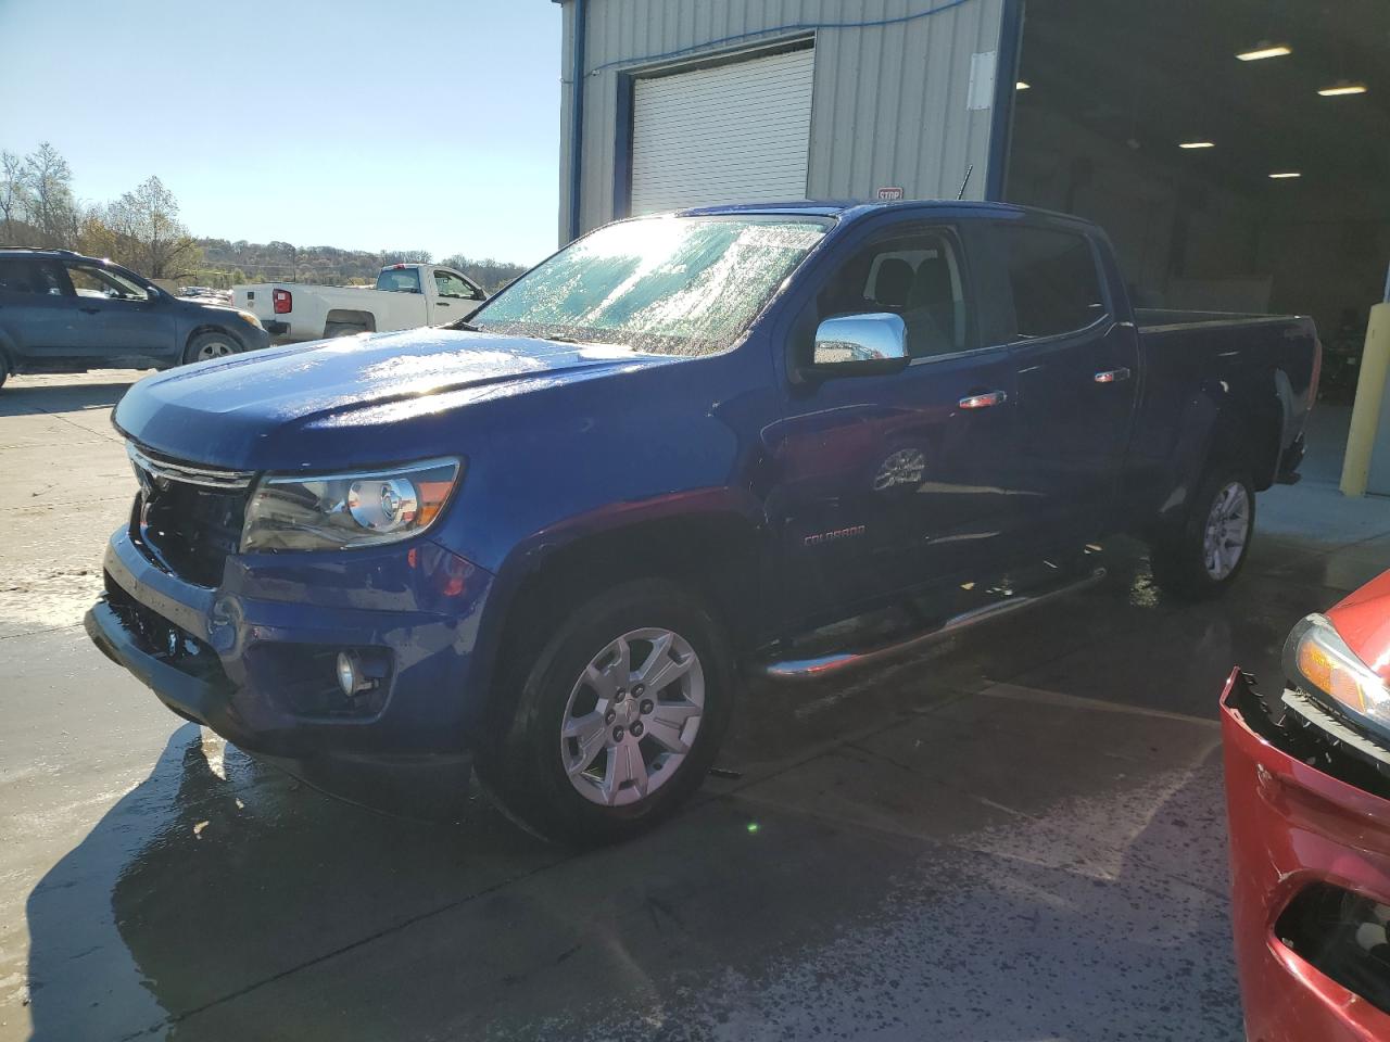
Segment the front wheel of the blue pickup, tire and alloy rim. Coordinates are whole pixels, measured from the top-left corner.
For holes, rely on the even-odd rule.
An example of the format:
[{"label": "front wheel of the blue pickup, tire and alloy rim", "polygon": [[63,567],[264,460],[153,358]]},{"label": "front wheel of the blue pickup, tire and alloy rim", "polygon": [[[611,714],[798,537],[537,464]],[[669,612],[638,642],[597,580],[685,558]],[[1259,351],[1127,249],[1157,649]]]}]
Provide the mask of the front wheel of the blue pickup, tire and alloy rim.
[{"label": "front wheel of the blue pickup, tire and alloy rim", "polygon": [[[505,813],[546,839],[596,846],[645,832],[699,788],[734,700],[728,639],[701,600],[637,579],[571,602],[534,657],[518,652],[524,678],[499,692],[509,711],[474,764]],[[657,664],[680,672],[644,690]]]}]

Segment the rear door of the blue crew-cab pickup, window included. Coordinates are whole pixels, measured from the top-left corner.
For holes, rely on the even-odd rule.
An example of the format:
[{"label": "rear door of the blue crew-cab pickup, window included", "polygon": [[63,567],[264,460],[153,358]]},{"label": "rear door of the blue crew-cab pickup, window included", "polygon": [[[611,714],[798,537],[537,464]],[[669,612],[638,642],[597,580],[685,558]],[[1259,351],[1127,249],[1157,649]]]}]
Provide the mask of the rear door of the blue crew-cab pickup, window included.
[{"label": "rear door of the blue crew-cab pickup, window included", "polygon": [[1098,245],[1077,225],[994,224],[1017,381],[1019,507],[1040,552],[1109,531],[1134,415],[1138,336],[1118,321]]}]

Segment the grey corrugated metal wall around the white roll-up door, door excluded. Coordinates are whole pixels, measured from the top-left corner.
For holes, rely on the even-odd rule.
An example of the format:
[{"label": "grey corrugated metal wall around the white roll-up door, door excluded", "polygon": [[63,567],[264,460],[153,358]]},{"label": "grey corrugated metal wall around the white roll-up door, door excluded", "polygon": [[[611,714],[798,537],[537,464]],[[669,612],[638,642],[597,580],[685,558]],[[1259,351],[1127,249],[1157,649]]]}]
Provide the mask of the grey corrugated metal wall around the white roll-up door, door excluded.
[{"label": "grey corrugated metal wall around the white roll-up door, door excluded", "polygon": [[[901,186],[909,199],[984,195],[991,108],[967,108],[970,56],[997,51],[1005,0],[587,0],[581,228],[613,218],[619,74],[692,63],[781,38],[815,35],[816,85],[808,190],[816,199],[872,199]],[[569,238],[570,78],[574,0],[563,0],[560,239]],[[877,28],[826,22],[937,14]],[[803,26],[803,28],[798,28]],[[744,33],[764,35],[728,40]],[[719,40],[727,40],[719,43]],[[692,53],[660,61],[671,51]],[[619,164],[626,165],[626,164]]]}]

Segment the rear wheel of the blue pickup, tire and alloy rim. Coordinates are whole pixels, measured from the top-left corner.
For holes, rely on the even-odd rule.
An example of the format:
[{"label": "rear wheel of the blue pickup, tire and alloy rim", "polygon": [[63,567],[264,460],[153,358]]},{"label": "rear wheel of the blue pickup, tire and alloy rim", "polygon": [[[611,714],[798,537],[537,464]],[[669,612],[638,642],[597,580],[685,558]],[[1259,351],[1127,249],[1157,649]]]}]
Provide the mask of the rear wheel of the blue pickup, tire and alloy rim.
[{"label": "rear wheel of the blue pickup, tire and alloy rim", "polygon": [[[1241,518],[1244,528],[1237,532]],[[1245,567],[1254,534],[1255,489],[1250,471],[1230,463],[1212,467],[1180,528],[1155,542],[1154,581],[1182,600],[1220,596]],[[1213,557],[1218,543],[1223,549]]]}]

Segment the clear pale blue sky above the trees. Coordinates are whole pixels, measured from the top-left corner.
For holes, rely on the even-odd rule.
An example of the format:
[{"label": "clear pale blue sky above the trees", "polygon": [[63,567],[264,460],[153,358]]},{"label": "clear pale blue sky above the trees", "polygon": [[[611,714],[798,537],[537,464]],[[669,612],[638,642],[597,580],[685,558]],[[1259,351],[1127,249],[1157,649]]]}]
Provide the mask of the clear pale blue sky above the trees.
[{"label": "clear pale blue sky above the trees", "polygon": [[0,149],[158,175],[197,236],[532,264],[559,128],[549,0],[0,0]]}]

